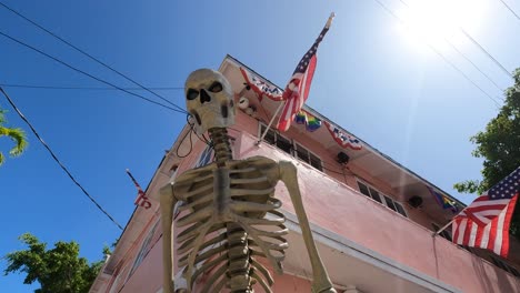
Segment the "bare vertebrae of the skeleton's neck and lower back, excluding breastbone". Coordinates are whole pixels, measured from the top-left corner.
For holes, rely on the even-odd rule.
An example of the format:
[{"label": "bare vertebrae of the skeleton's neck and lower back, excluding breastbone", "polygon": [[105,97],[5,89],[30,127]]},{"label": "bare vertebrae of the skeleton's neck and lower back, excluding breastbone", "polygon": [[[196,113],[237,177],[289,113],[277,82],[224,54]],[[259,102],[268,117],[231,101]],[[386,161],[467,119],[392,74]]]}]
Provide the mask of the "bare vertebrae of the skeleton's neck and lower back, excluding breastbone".
[{"label": "bare vertebrae of the skeleton's neck and lower back, excluding breastbone", "polygon": [[[226,162],[233,159],[228,130],[226,128],[213,128],[208,132],[213,142],[217,165],[224,168]],[[227,223],[226,229],[228,239],[228,286],[231,293],[252,293],[248,233],[237,223]]]}]

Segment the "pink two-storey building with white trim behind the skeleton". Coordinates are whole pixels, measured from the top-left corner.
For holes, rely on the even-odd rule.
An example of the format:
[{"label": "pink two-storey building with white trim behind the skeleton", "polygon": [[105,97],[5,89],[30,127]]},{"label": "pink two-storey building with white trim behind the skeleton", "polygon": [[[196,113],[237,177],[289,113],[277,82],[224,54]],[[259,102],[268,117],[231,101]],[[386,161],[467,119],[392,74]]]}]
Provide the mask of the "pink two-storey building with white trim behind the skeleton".
[{"label": "pink two-storey building with white trim behind the skeleton", "polygon": [[[484,250],[451,243],[449,230],[432,238],[432,232],[448,223],[453,213],[436,202],[428,186],[450,196],[369,144],[361,141],[361,150],[344,149],[326,123],[313,132],[292,123],[284,133],[270,130],[257,146],[279,102],[267,98],[260,101],[252,90],[242,90],[240,68],[270,89],[279,89],[226,57],[220,72],[256,109],[252,115],[237,111],[237,124],[229,130],[233,155],[241,159],[259,154],[292,161],[298,166],[314,240],[338,292],[520,292],[519,242],[511,239],[509,259],[504,260]],[[336,127],[311,108],[304,110]],[[152,208],[136,209],[90,292],[162,292],[159,189],[177,174],[211,162],[212,155],[194,134],[192,144],[183,140],[188,132],[187,125],[153,174],[147,189]],[[273,292],[310,292],[310,263],[282,183],[277,188],[277,198],[283,202],[281,211],[291,232],[284,274],[272,273]],[[450,199],[459,209],[464,206]]]}]

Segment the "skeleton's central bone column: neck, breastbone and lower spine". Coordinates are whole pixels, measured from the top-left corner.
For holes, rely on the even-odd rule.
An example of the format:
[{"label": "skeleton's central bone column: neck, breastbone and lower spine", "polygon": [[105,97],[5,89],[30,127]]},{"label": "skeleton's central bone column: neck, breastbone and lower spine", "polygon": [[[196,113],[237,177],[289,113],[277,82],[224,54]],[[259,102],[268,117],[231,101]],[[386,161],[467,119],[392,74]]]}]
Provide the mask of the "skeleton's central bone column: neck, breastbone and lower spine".
[{"label": "skeleton's central bone column: neck, breastbone and lower spine", "polygon": [[228,270],[229,289],[231,293],[249,293],[251,289],[250,277],[250,251],[248,245],[248,233],[243,228],[234,223],[231,218],[229,204],[231,199],[231,182],[227,162],[233,159],[229,142],[228,131],[224,128],[209,130],[213,141],[214,159],[217,170],[213,171],[213,204],[216,216],[226,223],[226,235],[228,240]]}]

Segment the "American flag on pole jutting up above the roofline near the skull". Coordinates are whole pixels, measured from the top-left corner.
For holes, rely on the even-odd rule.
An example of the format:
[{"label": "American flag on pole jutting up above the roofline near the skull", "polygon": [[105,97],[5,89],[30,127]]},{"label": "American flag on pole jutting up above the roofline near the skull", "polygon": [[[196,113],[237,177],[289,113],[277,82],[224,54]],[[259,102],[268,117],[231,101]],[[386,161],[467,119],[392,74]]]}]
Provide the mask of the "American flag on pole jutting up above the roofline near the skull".
[{"label": "American flag on pole jutting up above the roofline near the skull", "polygon": [[286,100],[286,105],[283,107],[282,114],[277,125],[277,129],[280,131],[287,131],[291,127],[291,121],[309,97],[309,90],[316,70],[316,52],[321,40],[323,40],[323,37],[329,31],[333,18],[334,13],[332,12],[318,39],[316,39],[312,47],[300,60],[300,63],[298,63],[298,67],[294,69],[294,72],[283,91],[282,98]]}]

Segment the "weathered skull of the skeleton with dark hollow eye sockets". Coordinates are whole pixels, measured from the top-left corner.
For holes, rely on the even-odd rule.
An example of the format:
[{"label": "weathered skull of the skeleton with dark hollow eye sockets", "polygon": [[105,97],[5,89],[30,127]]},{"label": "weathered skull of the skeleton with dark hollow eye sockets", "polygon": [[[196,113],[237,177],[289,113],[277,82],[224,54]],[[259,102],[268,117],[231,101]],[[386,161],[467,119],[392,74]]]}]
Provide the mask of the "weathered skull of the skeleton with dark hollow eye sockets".
[{"label": "weathered skull of the skeleton with dark hollow eye sockets", "polygon": [[191,72],[186,80],[184,93],[197,133],[234,124],[233,91],[222,73],[211,69]]}]

